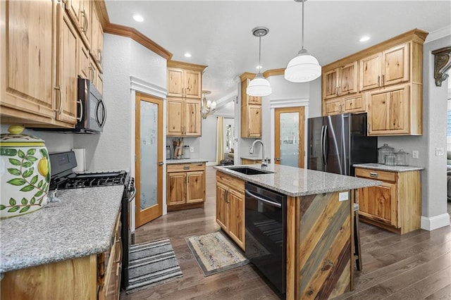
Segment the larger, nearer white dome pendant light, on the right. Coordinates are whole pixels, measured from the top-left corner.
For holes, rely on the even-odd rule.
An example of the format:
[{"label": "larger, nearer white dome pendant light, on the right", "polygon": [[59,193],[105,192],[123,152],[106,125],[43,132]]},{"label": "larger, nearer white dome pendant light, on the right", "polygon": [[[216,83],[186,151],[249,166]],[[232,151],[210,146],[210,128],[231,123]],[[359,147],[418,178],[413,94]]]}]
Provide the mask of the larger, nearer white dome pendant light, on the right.
[{"label": "larger, nearer white dome pendant light, on the right", "polygon": [[285,68],[285,79],[290,82],[309,82],[321,76],[321,65],[314,56],[304,49],[304,2],[307,0],[295,0],[302,2],[302,49],[297,56],[292,58]]}]

